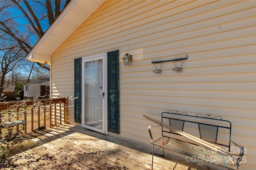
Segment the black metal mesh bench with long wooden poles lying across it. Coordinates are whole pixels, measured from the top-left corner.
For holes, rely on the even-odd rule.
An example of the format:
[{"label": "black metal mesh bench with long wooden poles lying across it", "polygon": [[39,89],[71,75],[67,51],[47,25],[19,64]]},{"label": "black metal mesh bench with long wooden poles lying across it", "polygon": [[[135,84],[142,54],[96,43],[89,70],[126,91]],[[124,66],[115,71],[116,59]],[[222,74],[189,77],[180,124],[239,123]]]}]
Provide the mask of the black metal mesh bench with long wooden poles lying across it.
[{"label": "black metal mesh bench with long wooden poles lying across it", "polygon": [[[212,117],[209,114],[204,116],[199,113],[188,115],[187,112],[168,110],[162,112],[162,122],[146,115],[144,117],[162,126],[162,137],[157,139],[153,139],[151,127],[158,126],[148,127],[152,144],[152,169],[154,154],[160,148],[163,149],[162,156],[164,156],[164,149],[168,149],[192,157],[193,159],[190,160],[197,160],[197,164],[205,161],[228,169],[239,169],[244,147],[231,140],[231,123],[223,120],[221,116]],[[194,136],[185,133],[185,129],[190,134],[194,132]],[[239,147],[240,153],[230,152],[231,142]],[[154,150],[154,146],[158,149]],[[189,160],[186,158],[186,161]]]}]

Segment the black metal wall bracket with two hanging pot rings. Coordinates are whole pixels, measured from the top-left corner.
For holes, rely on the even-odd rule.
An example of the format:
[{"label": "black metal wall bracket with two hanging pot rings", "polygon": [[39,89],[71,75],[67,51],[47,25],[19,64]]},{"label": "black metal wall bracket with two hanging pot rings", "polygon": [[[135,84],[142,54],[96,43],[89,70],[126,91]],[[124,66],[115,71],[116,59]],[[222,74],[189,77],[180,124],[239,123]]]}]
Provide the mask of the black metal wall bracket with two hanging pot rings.
[{"label": "black metal wall bracket with two hanging pot rings", "polygon": [[[174,71],[176,71],[176,72],[182,72],[183,68],[181,68],[181,66],[182,66],[182,64],[184,63],[184,61],[187,60],[187,59],[188,59],[188,55],[186,55],[185,58],[180,57],[180,58],[175,58],[175,59],[173,59],[173,60],[165,60],[165,61],[162,61],[162,60],[153,61],[153,60],[152,60],[151,63],[154,64],[155,67],[156,67],[155,64],[160,64],[160,68],[158,69],[158,68],[156,67],[156,70],[153,70],[153,72],[155,72],[156,74],[161,74],[161,73],[162,73],[162,70],[161,70],[162,65],[163,65],[163,63],[166,63],[166,62],[173,62],[174,65],[175,65],[175,68],[172,68],[172,70],[174,70]],[[182,63],[180,64],[180,66],[177,66],[177,63],[176,63],[176,62],[179,62],[179,61],[181,61]],[[176,64],[175,64],[175,63],[176,63]]]}]

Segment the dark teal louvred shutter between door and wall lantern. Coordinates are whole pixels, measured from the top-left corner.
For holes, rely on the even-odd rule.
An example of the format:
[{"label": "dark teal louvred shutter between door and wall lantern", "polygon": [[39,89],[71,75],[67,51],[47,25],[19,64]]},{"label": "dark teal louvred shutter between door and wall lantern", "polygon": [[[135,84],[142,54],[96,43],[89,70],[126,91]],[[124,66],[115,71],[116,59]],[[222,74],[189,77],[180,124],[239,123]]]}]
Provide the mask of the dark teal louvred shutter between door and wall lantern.
[{"label": "dark teal louvred shutter between door and wall lantern", "polygon": [[108,131],[119,131],[119,50],[107,53],[108,56]]}]

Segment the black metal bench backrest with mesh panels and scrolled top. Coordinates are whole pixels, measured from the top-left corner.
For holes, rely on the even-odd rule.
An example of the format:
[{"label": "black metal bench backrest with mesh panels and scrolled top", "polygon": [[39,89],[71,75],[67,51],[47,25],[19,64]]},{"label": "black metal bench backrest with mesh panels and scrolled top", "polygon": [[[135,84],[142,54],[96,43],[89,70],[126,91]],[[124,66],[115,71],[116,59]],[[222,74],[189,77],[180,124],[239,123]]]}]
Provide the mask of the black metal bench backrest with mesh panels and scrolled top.
[{"label": "black metal bench backrest with mesh panels and scrolled top", "polygon": [[[167,112],[162,112],[162,123],[167,122],[171,127],[179,131],[184,131],[184,125],[188,123],[196,124],[196,127],[198,127],[200,139],[228,147],[228,151],[230,151],[231,123],[230,121],[222,120],[221,116],[212,117],[210,114],[203,116],[200,113],[197,113],[194,116],[188,115],[187,112],[180,113],[179,111],[168,110]],[[226,129],[226,131],[228,131],[228,141],[218,142],[220,129]],[[162,135],[164,135],[164,133],[172,133],[178,135],[178,133],[175,131],[166,130],[162,127]],[[228,143],[228,145],[226,143]]]}]

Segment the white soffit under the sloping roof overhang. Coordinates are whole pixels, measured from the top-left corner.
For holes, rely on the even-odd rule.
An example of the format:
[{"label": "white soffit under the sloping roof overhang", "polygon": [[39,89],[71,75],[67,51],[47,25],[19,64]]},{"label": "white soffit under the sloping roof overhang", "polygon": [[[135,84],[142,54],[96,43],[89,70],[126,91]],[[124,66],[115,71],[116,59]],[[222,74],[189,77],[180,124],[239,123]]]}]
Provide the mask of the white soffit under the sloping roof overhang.
[{"label": "white soffit under the sloping roof overhang", "polygon": [[54,51],[64,43],[104,3],[105,0],[71,0],[68,6],[47,29],[26,60],[38,63],[48,62]]}]

